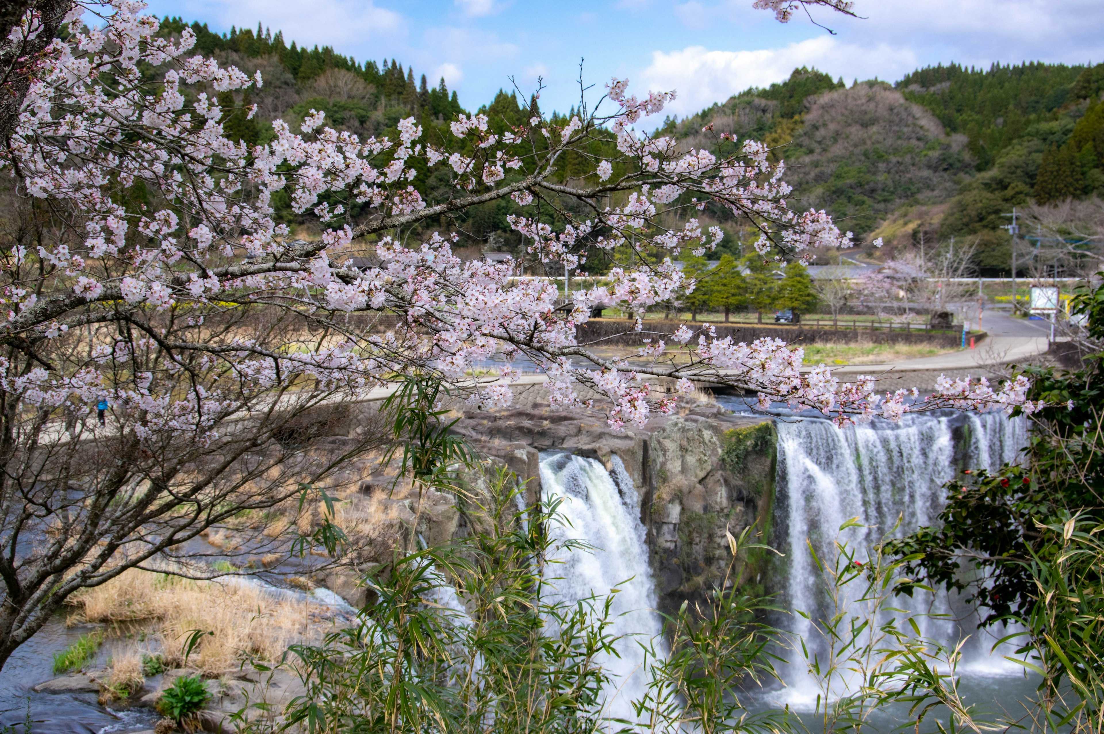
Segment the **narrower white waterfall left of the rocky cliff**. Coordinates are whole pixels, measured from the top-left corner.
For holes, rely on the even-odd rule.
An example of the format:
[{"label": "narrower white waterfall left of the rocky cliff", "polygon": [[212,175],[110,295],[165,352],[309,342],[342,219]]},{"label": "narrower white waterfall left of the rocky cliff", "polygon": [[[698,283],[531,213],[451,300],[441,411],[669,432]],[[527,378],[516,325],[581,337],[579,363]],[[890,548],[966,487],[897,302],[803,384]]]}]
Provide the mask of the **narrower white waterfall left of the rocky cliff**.
[{"label": "narrower white waterfall left of the rocky cliff", "polygon": [[555,588],[553,598],[574,604],[613,589],[611,632],[625,636],[617,643],[619,657],[601,660],[612,676],[604,713],[634,719],[631,702],[647,690],[647,673],[640,645],[661,645],[662,631],[656,609],[655,583],[648,564],[645,528],[633,480],[620,459],[613,457],[612,471],[595,459],[563,453],[541,454],[543,501],[562,499],[564,522],[551,529],[560,541],[588,544],[591,551],[572,551],[546,566],[545,577]]}]

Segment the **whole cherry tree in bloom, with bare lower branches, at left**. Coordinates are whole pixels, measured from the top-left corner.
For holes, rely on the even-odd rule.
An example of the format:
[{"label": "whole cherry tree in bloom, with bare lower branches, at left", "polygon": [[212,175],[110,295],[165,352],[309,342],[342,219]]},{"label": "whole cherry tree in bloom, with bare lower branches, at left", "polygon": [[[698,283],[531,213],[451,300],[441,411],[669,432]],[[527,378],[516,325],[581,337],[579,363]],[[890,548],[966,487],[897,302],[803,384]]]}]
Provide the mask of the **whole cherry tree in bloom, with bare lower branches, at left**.
[{"label": "whole cherry tree in bloom, with bare lower branches, at left", "polygon": [[[348,455],[320,460],[287,432],[395,375],[434,375],[502,407],[518,371],[481,381],[473,368],[524,357],[554,407],[603,404],[615,427],[673,409],[677,394],[654,396],[649,380],[686,393],[708,379],[840,422],[1033,409],[1023,379],[999,390],[944,381],[910,403],[871,377],[803,373],[802,350],[778,340],[737,343],[708,326],[638,325],[631,365],[581,343],[593,305],[641,312],[678,290],[672,259],[722,238],[697,217],[707,204],[757,231],[764,258],[851,244],[825,212],[790,208],[785,164],[765,146],[720,135],[714,149],[686,149],[639,132],[675,92],[641,98],[613,79],[570,120],[532,111],[495,132],[486,116],[459,115],[439,139],[407,118],[361,140],[311,110],[298,130],[276,120],[274,138],[251,148],[224,135],[216,97],[261,87],[259,73],[193,53],[190,30],[159,35],[142,11],[134,0],[34,3],[0,50],[0,171],[12,211],[31,222],[0,248],[0,662],[81,586],[323,478]],[[563,175],[570,157],[588,172]],[[427,200],[415,183],[431,174],[448,190]],[[320,236],[294,238],[277,199]],[[551,283],[513,277],[512,263],[463,262],[459,236],[434,231],[505,199],[541,262],[638,256],[556,309]],[[550,214],[565,224],[553,228]],[[665,357],[671,349],[682,359]],[[103,424],[92,417],[102,403]]]}]

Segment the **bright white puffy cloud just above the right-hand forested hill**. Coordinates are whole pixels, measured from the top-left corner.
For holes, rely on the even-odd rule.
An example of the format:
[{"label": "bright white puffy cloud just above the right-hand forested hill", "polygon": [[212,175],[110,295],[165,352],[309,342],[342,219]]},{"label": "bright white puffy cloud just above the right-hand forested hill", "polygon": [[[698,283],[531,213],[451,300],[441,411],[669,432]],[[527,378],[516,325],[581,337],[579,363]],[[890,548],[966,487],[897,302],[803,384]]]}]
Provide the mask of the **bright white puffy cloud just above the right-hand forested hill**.
[{"label": "bright white puffy cloud just above the right-hand forested hill", "polygon": [[681,51],[651,54],[651,64],[641,73],[644,86],[634,84],[636,93],[645,88],[659,92],[676,89],[678,98],[665,113],[692,115],[714,102],[724,102],[733,94],[753,86],[767,86],[787,78],[797,66],[816,66],[832,76],[892,79],[916,66],[915,55],[907,49],[880,45],[862,49],[822,35],[782,49],[758,51],[710,51],[689,46]]}]

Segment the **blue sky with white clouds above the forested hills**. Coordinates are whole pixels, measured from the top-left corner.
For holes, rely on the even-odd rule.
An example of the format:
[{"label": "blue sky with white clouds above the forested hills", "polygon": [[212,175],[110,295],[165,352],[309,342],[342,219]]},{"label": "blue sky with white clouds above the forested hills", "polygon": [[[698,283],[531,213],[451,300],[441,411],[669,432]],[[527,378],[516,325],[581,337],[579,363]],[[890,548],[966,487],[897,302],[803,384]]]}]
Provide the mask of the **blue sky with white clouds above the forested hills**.
[{"label": "blue sky with white clouds above the forested hills", "polygon": [[857,0],[864,20],[814,10],[788,24],[752,0],[153,0],[158,15],[212,30],[257,22],[300,44],[329,44],[358,60],[397,58],[431,82],[445,76],[470,109],[513,76],[541,76],[542,108],[580,96],[578,64],[599,89],[677,89],[683,116],[749,86],[815,65],[834,76],[894,81],[937,62],[1083,63],[1104,60],[1104,0]]}]

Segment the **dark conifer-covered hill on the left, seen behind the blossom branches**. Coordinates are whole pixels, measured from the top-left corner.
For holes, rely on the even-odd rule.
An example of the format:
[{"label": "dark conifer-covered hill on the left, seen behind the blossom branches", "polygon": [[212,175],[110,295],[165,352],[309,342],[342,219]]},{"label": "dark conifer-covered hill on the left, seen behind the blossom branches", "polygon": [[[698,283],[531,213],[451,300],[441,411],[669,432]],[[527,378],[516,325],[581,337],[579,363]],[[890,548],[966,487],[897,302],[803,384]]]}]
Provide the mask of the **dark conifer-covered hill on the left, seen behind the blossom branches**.
[{"label": "dark conifer-covered hill on the left, seen behind the blossom branches", "polygon": [[[458,113],[468,114],[459,103],[455,92],[449,92],[445,79],[429,84],[422,74],[417,77],[411,67],[395,60],[358,62],[343,56],[329,46],[321,49],[299,47],[295,41],[287,43],[282,32],[272,33],[259,25],[256,31],[232,29],[229,34],[211,32],[206,25],[191,23],[187,25],[179,18],[166,18],[161,34],[171,36],[179,34],[188,26],[197,35],[197,50],[212,55],[222,62],[233,64],[252,75],[259,71],[264,77],[261,89],[244,93],[223,92],[217,95],[220,107],[224,110],[220,120],[229,138],[244,140],[248,143],[266,142],[274,137],[272,121],[284,119],[293,130],[298,129],[298,123],[311,109],[323,110],[326,123],[339,131],[348,130],[361,136],[399,137],[396,126],[403,118],[414,117],[423,128],[422,140],[435,146],[447,147],[471,156],[469,138],[457,138],[449,126]],[[416,81],[417,79],[417,81]],[[198,88],[182,89],[185,104],[192,104]],[[257,106],[252,118],[247,109]],[[522,127],[534,114],[540,114],[535,99],[524,99],[513,94],[499,92],[490,104],[481,105],[477,111],[489,118],[490,129],[501,135],[508,127]],[[566,123],[563,116],[553,114],[553,124]],[[517,145],[516,155],[544,150],[549,141],[539,135],[532,139],[521,139]],[[596,141],[598,146],[607,146],[607,157],[615,152],[614,138]],[[528,175],[528,158],[517,171],[508,171],[507,175]],[[449,177],[452,169],[438,166],[432,170],[414,164],[417,175],[412,184],[422,194],[423,200],[434,204],[454,191]],[[594,177],[593,166],[583,160],[577,151],[569,151],[558,161],[558,170],[553,180],[566,182],[578,177]],[[622,164],[614,166],[614,174],[620,175]],[[597,179],[595,179],[596,181]],[[322,196],[328,201],[327,196]],[[337,202],[332,202],[337,203]],[[565,223],[562,216],[564,206],[573,206],[570,201],[558,202],[555,206],[544,208],[539,216],[553,227],[562,227]],[[275,216],[293,226],[308,227],[310,217],[296,215],[291,211],[290,200],[285,191],[273,195]],[[343,217],[355,222],[360,216],[359,204],[347,208]],[[468,256],[479,256],[487,249],[508,251],[516,255],[522,252],[521,237],[507,222],[509,214],[520,214],[521,208],[509,199],[493,200],[482,205],[466,208],[463,212],[450,215],[434,223],[433,228],[447,227],[461,236],[458,247]],[[338,222],[340,224],[341,222]],[[301,236],[310,236],[309,228],[297,232]],[[427,233],[396,233],[404,241],[416,238]],[[416,240],[415,240],[416,241]],[[604,273],[609,264],[592,259],[587,267],[594,273]]]}]

